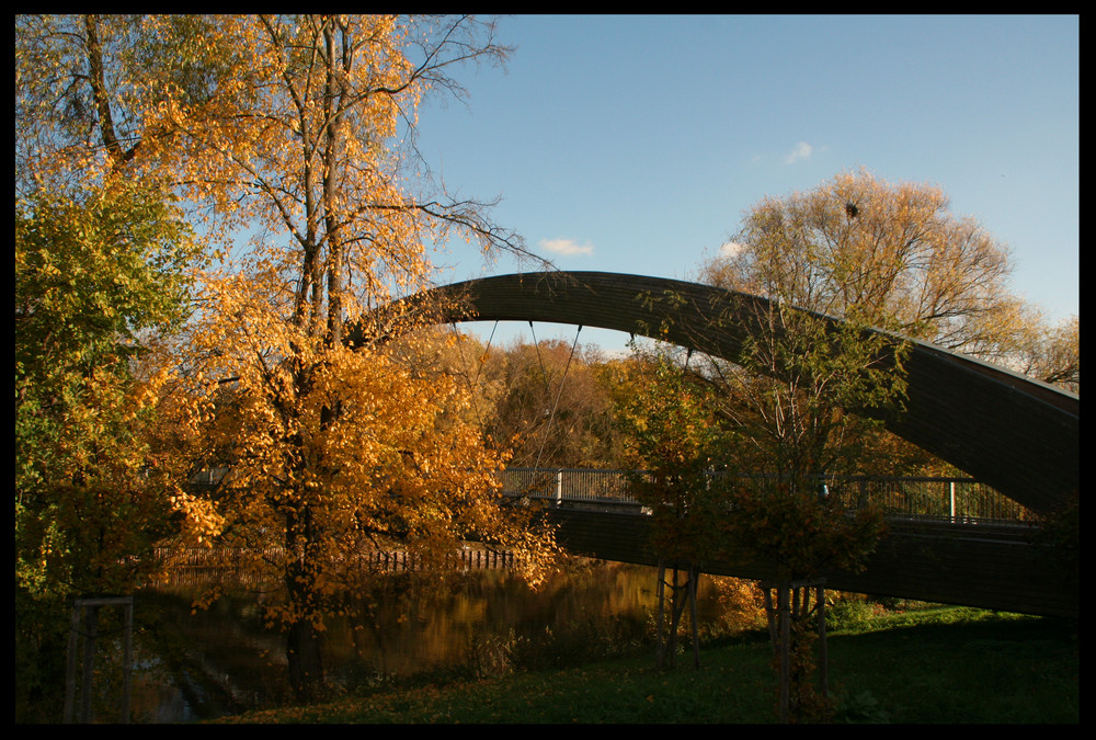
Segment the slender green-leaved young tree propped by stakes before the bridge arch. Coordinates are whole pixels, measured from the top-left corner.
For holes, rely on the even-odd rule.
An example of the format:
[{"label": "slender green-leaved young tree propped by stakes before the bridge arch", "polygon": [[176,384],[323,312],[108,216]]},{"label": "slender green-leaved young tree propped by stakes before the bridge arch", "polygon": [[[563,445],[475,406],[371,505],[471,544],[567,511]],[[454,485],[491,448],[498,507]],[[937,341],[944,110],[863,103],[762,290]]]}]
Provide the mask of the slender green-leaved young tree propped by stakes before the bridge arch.
[{"label": "slender green-leaved young tree propped by stakes before the bridge arch", "polygon": [[[859,506],[848,515],[855,502],[829,492],[824,482],[858,465],[864,425],[879,423],[857,414],[901,412],[906,348],[853,319],[835,321],[750,296],[732,297],[711,321],[732,326],[739,341],[724,360],[686,356],[690,382],[708,388],[706,412],[724,430],[717,459],[730,474],[703,491],[715,502],[704,519],[716,523],[724,542],[768,562],[778,593],[790,594],[768,603],[784,663],[777,668],[786,676],[781,716],[823,718],[827,702],[808,681],[815,668],[809,594],[820,593],[827,569],[861,568],[883,532],[879,511]],[[686,440],[689,425],[676,426]],[[790,607],[781,608],[785,603]],[[787,631],[776,627],[781,618],[791,621]]]}]

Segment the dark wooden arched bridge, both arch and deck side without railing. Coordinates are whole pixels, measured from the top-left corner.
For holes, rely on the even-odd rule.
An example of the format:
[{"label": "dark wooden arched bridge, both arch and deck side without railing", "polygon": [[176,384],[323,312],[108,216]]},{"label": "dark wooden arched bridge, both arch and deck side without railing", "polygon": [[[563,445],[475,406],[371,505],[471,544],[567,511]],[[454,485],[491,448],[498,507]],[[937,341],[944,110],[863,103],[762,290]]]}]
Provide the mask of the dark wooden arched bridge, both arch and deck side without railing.
[{"label": "dark wooden arched bridge, both arch and deck side without railing", "polygon": [[[381,335],[397,316],[436,323],[546,321],[651,337],[733,358],[766,299],[683,281],[592,272],[513,274],[447,285],[388,307],[350,341]],[[798,309],[797,309],[798,310]],[[838,319],[823,317],[827,321]],[[883,333],[883,332],[880,332]],[[891,335],[893,337],[893,335]],[[905,411],[887,428],[1037,513],[1080,490],[1080,398],[927,342],[907,341]],[[850,409],[850,411],[857,411]],[[870,414],[869,414],[870,415]],[[653,565],[650,517],[558,510],[563,544],[604,559]],[[892,527],[864,573],[826,573],[830,588],[861,593],[1076,616],[1078,587],[1008,527]],[[769,566],[707,563],[705,570],[767,578]]]}]

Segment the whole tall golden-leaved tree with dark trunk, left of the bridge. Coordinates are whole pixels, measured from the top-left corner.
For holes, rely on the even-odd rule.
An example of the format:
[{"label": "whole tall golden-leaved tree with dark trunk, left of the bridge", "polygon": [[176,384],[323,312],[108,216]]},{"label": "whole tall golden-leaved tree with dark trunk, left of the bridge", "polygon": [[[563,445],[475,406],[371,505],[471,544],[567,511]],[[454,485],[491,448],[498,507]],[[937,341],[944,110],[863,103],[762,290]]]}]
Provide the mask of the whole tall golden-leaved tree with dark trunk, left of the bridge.
[{"label": "whole tall golden-leaved tree with dark trunk, left of the bridge", "polygon": [[[488,204],[416,179],[418,103],[509,49],[473,18],[20,16],[16,187],[130,179],[174,192],[218,262],[201,274],[162,409],[195,467],[231,466],[174,505],[194,540],[277,545],[290,679],[323,683],[323,617],[355,548],[423,555],[505,542],[530,576],[550,538],[494,494],[466,391],[390,352],[419,326],[376,309],[434,277],[459,232],[525,254]],[[20,117],[22,115],[22,118]],[[77,173],[82,175],[77,177]],[[247,243],[243,243],[247,240]],[[395,322],[395,323],[393,323]],[[351,346],[353,344],[353,346]]]}]

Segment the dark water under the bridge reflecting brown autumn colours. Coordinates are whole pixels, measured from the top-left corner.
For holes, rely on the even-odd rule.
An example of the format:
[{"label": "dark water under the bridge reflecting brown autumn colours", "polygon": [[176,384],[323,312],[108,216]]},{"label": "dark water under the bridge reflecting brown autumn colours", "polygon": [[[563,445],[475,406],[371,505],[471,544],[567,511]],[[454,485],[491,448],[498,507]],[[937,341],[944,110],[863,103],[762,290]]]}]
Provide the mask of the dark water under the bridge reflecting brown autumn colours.
[{"label": "dark water under the bridge reflecting brown autumn colours", "polygon": [[[652,568],[604,562],[585,562],[536,591],[503,570],[450,573],[435,589],[385,576],[385,588],[363,594],[326,631],[328,679],[353,688],[385,676],[491,668],[502,646],[528,647],[546,629],[593,623],[602,633],[612,625],[618,642],[639,644],[650,631],[655,579]],[[192,595],[175,587],[138,597],[146,626],[137,639],[134,721],[193,721],[286,701],[284,645],[262,623],[271,596],[241,590],[192,612]],[[712,618],[718,607],[704,579],[698,602],[708,613],[701,623]]]}]

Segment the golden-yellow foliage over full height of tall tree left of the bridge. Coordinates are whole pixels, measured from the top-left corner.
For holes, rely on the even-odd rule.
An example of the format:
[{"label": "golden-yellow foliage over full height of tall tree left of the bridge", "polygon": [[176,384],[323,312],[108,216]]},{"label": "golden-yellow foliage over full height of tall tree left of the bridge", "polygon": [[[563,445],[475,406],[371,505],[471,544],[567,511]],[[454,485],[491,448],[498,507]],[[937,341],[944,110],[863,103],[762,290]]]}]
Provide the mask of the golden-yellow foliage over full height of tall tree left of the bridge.
[{"label": "golden-yellow foliage over full height of tall tree left of the bridge", "polygon": [[[123,19],[104,25],[115,22]],[[413,121],[422,91],[403,54],[420,41],[407,36],[408,22],[152,15],[133,23],[125,27],[163,52],[145,61],[163,66],[123,55],[110,70],[109,102],[139,141],[119,172],[185,183],[178,195],[189,213],[209,214],[201,228],[217,262],[195,270],[201,294],[175,357],[185,371],[172,376],[164,363],[129,399],[134,414],[161,401],[180,459],[231,468],[216,500],[171,499],[184,535],[207,547],[218,538],[282,546],[288,555],[247,557],[269,557],[283,573],[296,562],[290,556],[307,561],[300,585],[324,597],[347,588],[339,563],[366,535],[412,532],[424,549],[441,550],[476,525],[523,545],[530,572],[541,567],[550,547],[500,509],[491,473],[502,458],[469,422],[467,390],[365,341],[349,351],[335,331],[433,271],[423,243],[430,224],[386,148],[399,122]],[[326,54],[321,26],[341,34],[345,57]],[[73,60],[80,55],[66,59]],[[21,61],[18,79],[53,75],[38,71]],[[118,164],[94,141],[79,145],[72,157],[27,159],[90,179]],[[244,247],[240,235],[253,240]],[[317,608],[289,604],[279,616],[313,618]]]}]

